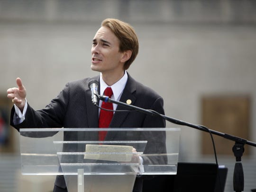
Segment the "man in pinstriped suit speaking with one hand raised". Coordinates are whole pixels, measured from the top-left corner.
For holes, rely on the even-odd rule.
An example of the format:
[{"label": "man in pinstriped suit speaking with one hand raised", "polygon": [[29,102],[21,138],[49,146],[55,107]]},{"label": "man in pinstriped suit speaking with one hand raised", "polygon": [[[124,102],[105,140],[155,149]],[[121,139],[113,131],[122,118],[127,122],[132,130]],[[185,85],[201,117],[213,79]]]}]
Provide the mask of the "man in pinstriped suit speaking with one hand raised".
[{"label": "man in pinstriped suit speaking with one hand raised", "polygon": [[[164,114],[163,98],[152,89],[138,83],[126,70],[135,60],[138,53],[137,35],[127,23],[118,19],[105,19],[92,40],[91,69],[101,72],[100,76],[77,80],[66,84],[60,94],[46,108],[35,111],[26,101],[26,89],[21,79],[17,78],[18,87],[7,90],[8,97],[15,104],[11,110],[10,124],[17,130],[35,127],[67,127],[67,128],[150,128],[165,127],[165,120],[138,112],[115,112],[109,125],[101,125],[101,110],[91,102],[91,80],[100,82],[100,94],[111,87],[114,100],[152,109]],[[104,102],[98,102],[100,106]],[[127,110],[113,105],[113,110]],[[111,112],[109,112],[111,113]],[[165,135],[163,135],[165,137]],[[64,135],[67,139],[68,135]],[[104,140],[104,136],[103,136]],[[165,143],[165,138],[163,138]],[[148,145],[146,151],[154,150],[166,153],[162,141]],[[154,148],[154,149],[152,149]],[[142,190],[141,178],[137,178],[134,191]],[[66,191],[64,178],[56,177],[55,192]]]}]

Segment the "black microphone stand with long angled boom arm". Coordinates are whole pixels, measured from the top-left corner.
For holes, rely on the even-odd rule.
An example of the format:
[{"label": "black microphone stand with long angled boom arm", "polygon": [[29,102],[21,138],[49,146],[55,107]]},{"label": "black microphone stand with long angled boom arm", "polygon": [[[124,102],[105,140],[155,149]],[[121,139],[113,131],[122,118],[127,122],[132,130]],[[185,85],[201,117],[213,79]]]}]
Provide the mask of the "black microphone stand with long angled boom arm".
[{"label": "black microphone stand with long angled boom arm", "polygon": [[133,110],[136,110],[138,112],[150,114],[150,115],[153,115],[153,116],[160,116],[160,117],[164,118],[165,120],[167,120],[169,122],[172,122],[174,124],[184,125],[184,126],[188,126],[188,127],[192,127],[192,128],[201,130],[201,131],[210,132],[214,135],[221,136],[225,139],[235,141],[235,144],[232,148],[234,156],[236,157],[236,164],[235,164],[234,174],[233,174],[233,188],[234,188],[235,192],[244,191],[244,172],[243,172],[241,157],[243,156],[244,145],[247,144],[247,145],[251,145],[251,146],[256,147],[255,142],[248,141],[248,140],[245,140],[243,138],[239,138],[239,137],[229,135],[229,134],[226,134],[226,133],[222,133],[222,132],[219,132],[219,131],[210,130],[210,129],[207,129],[204,126],[201,126],[201,125],[196,125],[196,124],[192,124],[192,123],[189,123],[189,122],[184,122],[184,121],[181,121],[181,120],[178,120],[178,119],[174,119],[172,117],[168,117],[166,115],[157,113],[153,110],[143,109],[143,108],[140,108],[140,107],[137,107],[137,106],[134,106],[134,105],[128,105],[126,103],[110,99],[108,96],[100,96],[100,95],[96,95],[96,96],[104,102],[110,102],[110,103],[114,103],[114,104],[117,104],[117,105],[122,105],[124,107],[129,108],[129,109],[133,109]]}]

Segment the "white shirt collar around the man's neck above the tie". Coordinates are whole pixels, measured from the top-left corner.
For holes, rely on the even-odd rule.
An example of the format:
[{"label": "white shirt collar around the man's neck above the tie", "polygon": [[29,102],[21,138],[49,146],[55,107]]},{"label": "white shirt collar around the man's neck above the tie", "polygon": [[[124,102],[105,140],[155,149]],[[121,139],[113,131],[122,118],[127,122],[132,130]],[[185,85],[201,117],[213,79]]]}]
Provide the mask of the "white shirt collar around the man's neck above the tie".
[{"label": "white shirt collar around the man's neck above the tie", "polygon": [[101,87],[100,94],[103,95],[104,90],[107,87],[111,87],[112,91],[113,91],[113,96],[111,98],[114,100],[119,100],[119,96],[123,92],[127,80],[128,80],[128,75],[127,75],[127,71],[125,70],[124,76],[121,79],[119,79],[119,81],[117,81],[112,86],[108,86],[105,83],[105,81],[102,79],[102,74],[101,74],[101,76],[100,76],[100,85],[101,85],[100,86]]}]

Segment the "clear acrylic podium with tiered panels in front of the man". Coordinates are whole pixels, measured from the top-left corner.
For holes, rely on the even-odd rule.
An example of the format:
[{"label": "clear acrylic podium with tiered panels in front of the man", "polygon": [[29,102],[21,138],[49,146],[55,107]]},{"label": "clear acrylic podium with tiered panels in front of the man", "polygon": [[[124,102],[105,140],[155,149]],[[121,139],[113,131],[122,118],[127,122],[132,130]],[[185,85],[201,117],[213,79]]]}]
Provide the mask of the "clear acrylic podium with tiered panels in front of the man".
[{"label": "clear acrylic podium with tiered panels in front of the man", "polygon": [[21,172],[64,175],[68,192],[132,192],[137,175],[176,175],[179,140],[179,128],[20,129]]}]

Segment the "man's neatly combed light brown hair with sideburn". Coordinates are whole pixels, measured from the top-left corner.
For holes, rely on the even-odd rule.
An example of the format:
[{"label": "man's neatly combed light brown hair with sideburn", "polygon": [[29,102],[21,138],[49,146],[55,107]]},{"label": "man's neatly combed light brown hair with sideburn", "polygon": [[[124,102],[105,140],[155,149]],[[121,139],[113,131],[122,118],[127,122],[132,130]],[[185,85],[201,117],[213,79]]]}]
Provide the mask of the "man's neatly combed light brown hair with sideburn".
[{"label": "man's neatly combed light brown hair with sideburn", "polygon": [[135,30],[128,23],[113,18],[103,20],[101,26],[110,28],[110,30],[117,36],[119,39],[120,52],[128,50],[132,52],[130,59],[124,64],[124,69],[127,70],[138,54],[138,38]]}]

